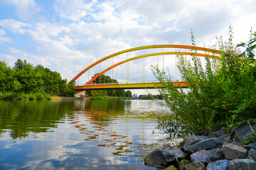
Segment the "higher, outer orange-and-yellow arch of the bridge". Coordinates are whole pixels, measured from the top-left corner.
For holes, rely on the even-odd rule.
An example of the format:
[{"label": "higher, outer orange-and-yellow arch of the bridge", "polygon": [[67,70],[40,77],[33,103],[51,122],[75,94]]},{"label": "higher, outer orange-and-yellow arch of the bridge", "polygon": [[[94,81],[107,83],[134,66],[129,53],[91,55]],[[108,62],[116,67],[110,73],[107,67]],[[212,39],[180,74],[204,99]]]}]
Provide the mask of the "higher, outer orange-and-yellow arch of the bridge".
[{"label": "higher, outer orange-and-yellow arch of the bridge", "polygon": [[[117,55],[122,55],[126,52],[132,52],[132,51],[137,51],[137,50],[146,50],[146,49],[151,49],[151,48],[178,48],[178,49],[199,50],[199,51],[205,51],[205,52],[212,52],[212,53],[215,53],[215,54],[220,54],[219,50],[213,50],[213,49],[205,48],[205,47],[195,47],[195,46],[191,46],[191,45],[146,45],[146,46],[142,46],[142,47],[134,47],[134,48],[130,48],[130,49],[127,49],[127,50],[122,50],[122,51],[119,51],[119,52],[115,52],[112,55],[108,55],[107,57],[104,57],[104,58],[98,60],[97,62],[94,62],[94,63],[90,64],[90,66],[86,67],[84,70],[82,70],[82,72],[80,72],[72,80],[70,80],[68,82],[68,84],[70,84],[72,81],[75,81],[76,79],[78,79],[87,70],[89,70],[92,67],[95,67],[95,65],[99,64],[100,62],[103,62],[103,61],[105,61],[107,59],[110,59],[110,58],[112,58],[114,56],[117,56]],[[161,52],[161,55],[163,55],[163,52]],[[147,57],[149,57],[149,56],[147,56]]]}]

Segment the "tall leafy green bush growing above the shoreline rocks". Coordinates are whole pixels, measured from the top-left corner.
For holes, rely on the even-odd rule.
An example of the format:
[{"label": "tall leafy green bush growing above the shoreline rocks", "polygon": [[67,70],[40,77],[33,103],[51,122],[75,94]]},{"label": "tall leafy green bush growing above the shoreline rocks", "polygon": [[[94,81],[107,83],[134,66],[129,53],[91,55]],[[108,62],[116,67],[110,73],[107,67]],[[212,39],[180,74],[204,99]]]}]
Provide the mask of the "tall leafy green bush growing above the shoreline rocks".
[{"label": "tall leafy green bush growing above the shoreline rocks", "polygon": [[[192,31],[191,35],[196,46]],[[234,113],[238,118],[255,116],[256,67],[248,55],[252,51],[238,55],[232,40],[230,27],[228,42],[218,40],[218,60],[205,57],[202,63],[196,50],[191,50],[191,60],[178,55],[178,69],[188,89],[176,88],[169,74],[152,67],[155,77],[166,87],[158,91],[171,109],[171,123],[181,123],[189,132],[203,134],[228,123]]]}]

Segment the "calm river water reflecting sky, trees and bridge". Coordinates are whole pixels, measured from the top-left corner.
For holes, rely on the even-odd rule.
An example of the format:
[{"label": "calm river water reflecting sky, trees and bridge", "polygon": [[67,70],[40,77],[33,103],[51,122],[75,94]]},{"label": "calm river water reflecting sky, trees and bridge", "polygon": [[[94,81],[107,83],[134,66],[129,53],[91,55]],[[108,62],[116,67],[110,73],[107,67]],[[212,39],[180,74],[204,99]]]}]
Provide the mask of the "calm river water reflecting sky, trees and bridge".
[{"label": "calm river water reflecting sky, trees and bridge", "polygon": [[[152,101],[0,101],[0,169],[154,169]],[[154,133],[152,133],[154,130]]]}]

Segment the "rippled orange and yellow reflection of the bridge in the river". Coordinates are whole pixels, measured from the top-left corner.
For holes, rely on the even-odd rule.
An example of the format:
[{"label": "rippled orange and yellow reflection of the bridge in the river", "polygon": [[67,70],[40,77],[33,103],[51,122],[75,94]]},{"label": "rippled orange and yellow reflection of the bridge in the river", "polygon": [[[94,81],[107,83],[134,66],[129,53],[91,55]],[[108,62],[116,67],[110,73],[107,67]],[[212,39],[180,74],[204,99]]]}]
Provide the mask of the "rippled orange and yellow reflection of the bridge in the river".
[{"label": "rippled orange and yellow reflection of the bridge in the river", "polygon": [[[152,105],[156,106],[155,113],[168,111],[152,101],[142,101],[144,108],[138,102],[140,101],[75,101],[75,117],[70,124],[85,135],[85,141],[97,142],[97,147],[116,147],[112,152],[114,155],[136,155],[134,152],[137,152],[138,145],[149,144],[152,140],[145,138],[145,133],[152,134],[152,130],[156,128],[157,117],[151,113]],[[149,102],[149,106],[145,102]],[[134,109],[138,109],[137,112],[134,113]],[[145,129],[145,123],[152,123],[154,128],[148,124],[149,127]],[[138,124],[141,124],[140,128]],[[153,136],[155,140],[161,138]]]}]

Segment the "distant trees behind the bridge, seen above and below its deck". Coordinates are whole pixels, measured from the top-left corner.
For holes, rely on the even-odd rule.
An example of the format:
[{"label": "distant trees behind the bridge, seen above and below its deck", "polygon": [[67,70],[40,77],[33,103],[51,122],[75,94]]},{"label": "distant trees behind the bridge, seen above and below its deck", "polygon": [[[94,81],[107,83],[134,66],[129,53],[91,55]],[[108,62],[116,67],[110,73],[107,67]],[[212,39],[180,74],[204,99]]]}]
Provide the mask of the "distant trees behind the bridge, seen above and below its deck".
[{"label": "distant trees behind the bridge, seen above and below its deck", "polygon": [[[96,73],[93,77],[97,76]],[[105,76],[104,74],[100,75],[92,84],[118,84],[116,79],[111,79],[109,76]],[[93,98],[100,96],[112,96],[112,97],[120,97],[120,98],[132,98],[132,91],[124,91],[124,89],[116,89],[116,90],[90,90],[88,94]]]}]

